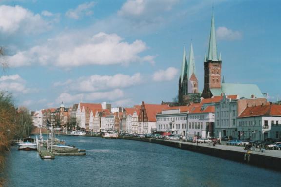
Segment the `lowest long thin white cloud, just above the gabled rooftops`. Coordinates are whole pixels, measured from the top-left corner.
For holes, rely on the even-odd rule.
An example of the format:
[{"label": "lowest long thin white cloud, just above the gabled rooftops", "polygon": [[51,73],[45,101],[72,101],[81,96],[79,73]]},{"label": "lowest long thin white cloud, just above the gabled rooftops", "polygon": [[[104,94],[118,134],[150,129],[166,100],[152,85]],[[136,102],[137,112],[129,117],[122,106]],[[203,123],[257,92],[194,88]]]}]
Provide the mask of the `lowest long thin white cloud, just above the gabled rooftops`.
[{"label": "lowest long thin white cloud, just above the gabled rooftops", "polygon": [[56,99],[56,103],[73,104],[77,102],[95,102],[99,100],[110,100],[120,99],[124,97],[124,92],[120,89],[115,89],[108,92],[93,92],[93,93],[80,93],[71,95],[69,93],[61,93]]}]

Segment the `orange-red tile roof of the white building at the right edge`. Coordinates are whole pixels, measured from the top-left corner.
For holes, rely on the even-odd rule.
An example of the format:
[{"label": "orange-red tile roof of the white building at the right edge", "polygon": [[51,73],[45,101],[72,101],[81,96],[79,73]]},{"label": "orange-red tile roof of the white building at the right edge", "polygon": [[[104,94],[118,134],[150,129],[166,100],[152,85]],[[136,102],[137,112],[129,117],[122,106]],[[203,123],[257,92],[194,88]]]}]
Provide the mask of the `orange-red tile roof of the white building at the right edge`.
[{"label": "orange-red tile roof of the white building at the right edge", "polygon": [[280,115],[281,105],[261,105],[247,107],[238,117],[251,117],[259,115]]}]

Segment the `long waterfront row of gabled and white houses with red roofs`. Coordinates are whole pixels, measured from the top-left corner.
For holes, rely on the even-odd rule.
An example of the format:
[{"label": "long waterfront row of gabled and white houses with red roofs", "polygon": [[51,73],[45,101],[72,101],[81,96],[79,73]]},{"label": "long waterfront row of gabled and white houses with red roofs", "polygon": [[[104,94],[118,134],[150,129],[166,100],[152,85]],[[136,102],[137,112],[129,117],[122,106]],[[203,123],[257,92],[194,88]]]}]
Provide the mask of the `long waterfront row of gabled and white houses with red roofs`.
[{"label": "long waterfront row of gabled and white houses with red roofs", "polygon": [[240,98],[221,95],[201,98],[189,106],[168,104],[135,105],[132,108],[111,108],[100,103],[78,103],[65,108],[34,112],[34,124],[60,125],[62,131],[161,133],[186,137],[223,137],[237,139],[281,138],[281,105],[266,98]]}]

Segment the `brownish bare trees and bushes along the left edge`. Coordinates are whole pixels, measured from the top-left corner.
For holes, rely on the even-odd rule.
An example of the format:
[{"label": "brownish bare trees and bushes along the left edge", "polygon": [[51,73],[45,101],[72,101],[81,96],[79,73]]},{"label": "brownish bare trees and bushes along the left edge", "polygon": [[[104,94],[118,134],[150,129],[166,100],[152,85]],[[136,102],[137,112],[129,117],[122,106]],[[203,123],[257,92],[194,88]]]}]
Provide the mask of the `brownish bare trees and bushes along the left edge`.
[{"label": "brownish bare trees and bushes along the left edge", "polygon": [[17,108],[12,96],[0,91],[0,187],[5,183],[5,157],[10,151],[12,141],[27,137],[32,129],[28,109]]}]

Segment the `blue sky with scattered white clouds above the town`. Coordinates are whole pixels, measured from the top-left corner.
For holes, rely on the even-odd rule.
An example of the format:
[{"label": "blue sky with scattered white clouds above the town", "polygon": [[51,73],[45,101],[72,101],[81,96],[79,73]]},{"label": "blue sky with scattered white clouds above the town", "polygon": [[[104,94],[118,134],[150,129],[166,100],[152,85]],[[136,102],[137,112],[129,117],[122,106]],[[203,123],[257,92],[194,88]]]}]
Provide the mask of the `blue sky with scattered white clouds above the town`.
[{"label": "blue sky with scattered white clouds above the town", "polygon": [[0,0],[0,90],[30,110],[172,101],[186,48],[204,84],[212,11],[226,83],[281,100],[280,0]]}]

